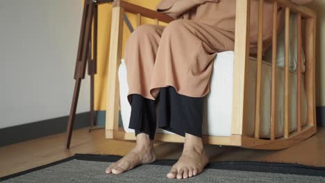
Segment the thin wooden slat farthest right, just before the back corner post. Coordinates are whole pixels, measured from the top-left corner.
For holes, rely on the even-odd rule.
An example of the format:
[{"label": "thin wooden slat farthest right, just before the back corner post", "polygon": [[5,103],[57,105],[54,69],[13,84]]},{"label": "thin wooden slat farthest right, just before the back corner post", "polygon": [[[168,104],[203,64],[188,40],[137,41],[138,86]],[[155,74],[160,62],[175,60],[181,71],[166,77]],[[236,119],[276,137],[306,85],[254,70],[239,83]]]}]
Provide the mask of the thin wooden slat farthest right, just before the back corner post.
[{"label": "thin wooden slat farthest right, just before the back corner post", "polygon": [[297,130],[301,132],[301,13],[297,17]]}]

